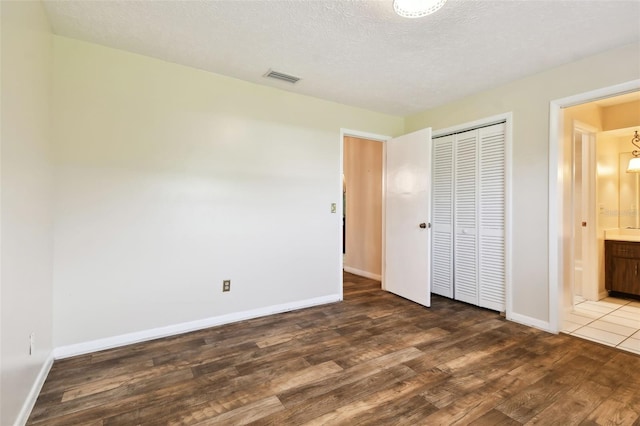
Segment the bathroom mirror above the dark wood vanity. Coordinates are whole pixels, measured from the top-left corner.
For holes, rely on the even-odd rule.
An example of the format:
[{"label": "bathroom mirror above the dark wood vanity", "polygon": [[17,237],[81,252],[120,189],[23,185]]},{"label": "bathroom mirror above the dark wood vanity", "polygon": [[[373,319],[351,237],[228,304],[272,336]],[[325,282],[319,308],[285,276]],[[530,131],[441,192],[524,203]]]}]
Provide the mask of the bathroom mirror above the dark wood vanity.
[{"label": "bathroom mirror above the dark wood vanity", "polygon": [[633,158],[630,152],[620,153],[619,165],[619,198],[618,223],[620,229],[640,229],[640,173],[627,173],[629,160]]}]

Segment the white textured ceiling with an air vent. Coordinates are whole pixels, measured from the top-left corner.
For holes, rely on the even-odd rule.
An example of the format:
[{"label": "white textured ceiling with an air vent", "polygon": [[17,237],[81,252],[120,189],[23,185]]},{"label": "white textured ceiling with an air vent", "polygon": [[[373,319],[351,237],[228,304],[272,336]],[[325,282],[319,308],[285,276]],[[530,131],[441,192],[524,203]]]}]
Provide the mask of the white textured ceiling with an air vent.
[{"label": "white textured ceiling with an air vent", "polygon": [[44,4],[59,35],[401,116],[640,42],[639,0],[449,0],[419,19],[391,0]]}]

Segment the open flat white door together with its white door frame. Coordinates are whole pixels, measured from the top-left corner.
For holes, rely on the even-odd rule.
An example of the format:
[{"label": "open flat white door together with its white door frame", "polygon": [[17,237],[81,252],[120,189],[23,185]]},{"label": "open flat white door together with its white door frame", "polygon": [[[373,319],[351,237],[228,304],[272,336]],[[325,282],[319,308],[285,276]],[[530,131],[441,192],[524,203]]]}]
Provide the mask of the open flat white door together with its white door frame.
[{"label": "open flat white door together with its white door frame", "polygon": [[[350,217],[353,208],[349,202],[350,178],[345,169],[344,137],[355,136],[369,139],[372,143],[384,142],[380,185],[380,232],[379,274],[371,274],[360,268],[356,273],[362,276],[374,275],[380,280],[381,288],[406,299],[430,305],[431,282],[429,277],[430,240],[427,229],[429,222],[429,176],[431,152],[431,128],[412,132],[396,138],[385,138],[360,132],[341,133],[341,173],[347,183],[346,203],[346,257],[352,252],[350,245]],[[359,159],[357,159],[359,161]],[[341,185],[342,186],[342,185]],[[342,188],[341,188],[342,191]],[[373,207],[377,210],[377,207]],[[340,211],[342,213],[342,206]],[[376,216],[376,215],[373,215]],[[353,265],[344,265],[340,252],[341,269],[349,271]],[[345,267],[346,266],[346,267]],[[353,271],[353,269],[351,269]],[[342,271],[340,271],[342,272]],[[363,273],[364,272],[364,273]],[[377,277],[375,275],[378,275]],[[343,288],[340,288],[343,295]]]}]

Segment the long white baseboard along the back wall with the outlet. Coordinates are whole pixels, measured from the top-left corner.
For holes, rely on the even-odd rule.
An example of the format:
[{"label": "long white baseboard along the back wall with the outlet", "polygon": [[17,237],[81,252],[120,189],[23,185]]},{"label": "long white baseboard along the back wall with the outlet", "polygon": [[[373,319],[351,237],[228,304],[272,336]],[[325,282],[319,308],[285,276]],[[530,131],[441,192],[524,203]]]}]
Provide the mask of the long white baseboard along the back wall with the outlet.
[{"label": "long white baseboard along the back wall with the outlet", "polygon": [[253,309],[250,311],[235,312],[232,314],[220,315],[217,317],[210,317],[196,321],[168,325],[166,327],[152,328],[149,330],[137,331],[135,333],[127,333],[121,334],[119,336],[107,337],[104,339],[91,340],[89,342],[60,346],[54,349],[53,356],[55,359],[69,358],[72,356],[84,355],[91,352],[112,349],[119,346],[130,345],[133,343],[145,342],[147,340],[160,339],[162,337],[202,330],[204,328],[215,327],[218,325],[264,317],[267,315],[279,314],[282,312],[295,311],[297,309],[310,308],[312,306],[325,305],[327,303],[334,303],[339,301],[340,295],[332,294],[329,296],[316,297],[314,299],[267,306],[265,308]]}]

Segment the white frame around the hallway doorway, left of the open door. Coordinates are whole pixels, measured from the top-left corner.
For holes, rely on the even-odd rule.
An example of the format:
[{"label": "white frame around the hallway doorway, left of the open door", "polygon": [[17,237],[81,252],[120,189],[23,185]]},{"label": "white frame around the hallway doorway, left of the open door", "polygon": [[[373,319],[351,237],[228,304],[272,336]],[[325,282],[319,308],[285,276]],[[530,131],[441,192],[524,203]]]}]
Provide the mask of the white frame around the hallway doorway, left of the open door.
[{"label": "white frame around the hallway doorway, left of the open door", "polygon": [[[340,129],[340,174],[338,175],[338,180],[340,182],[340,192],[339,192],[339,200],[342,200],[342,175],[344,174],[344,137],[345,136],[352,136],[355,138],[360,138],[360,139],[368,139],[368,140],[372,140],[372,141],[378,141],[378,142],[382,142],[382,143],[386,143],[389,139],[391,139],[391,136],[386,136],[386,135],[378,135],[375,133],[368,133],[368,132],[361,132],[359,130],[350,130],[350,129]],[[383,280],[384,280],[384,265],[385,265],[385,258],[384,258],[384,232],[385,232],[385,216],[384,216],[384,205],[385,205],[385,182],[386,182],[386,175],[387,175],[387,171],[386,171],[386,162],[387,162],[387,158],[385,155],[386,150],[384,149],[384,145],[383,145],[383,149],[382,149],[382,241],[381,241],[381,248],[382,248],[382,259],[381,259],[381,271],[380,271],[380,275],[382,276]],[[342,231],[342,202],[338,203],[338,209],[337,209],[337,214],[338,214],[338,222],[339,222],[339,226],[338,229],[340,231]],[[338,247],[341,248],[342,247],[342,232],[338,232],[338,238],[339,238],[339,244]],[[344,282],[342,279],[342,269],[344,268],[344,264],[343,264],[343,258],[342,258],[342,250],[338,250],[338,276],[339,278],[339,290],[338,290],[338,294],[340,295],[340,300],[344,299],[344,295],[343,295],[343,286],[344,286]],[[384,288],[384,281],[382,281],[382,288]]]}]

